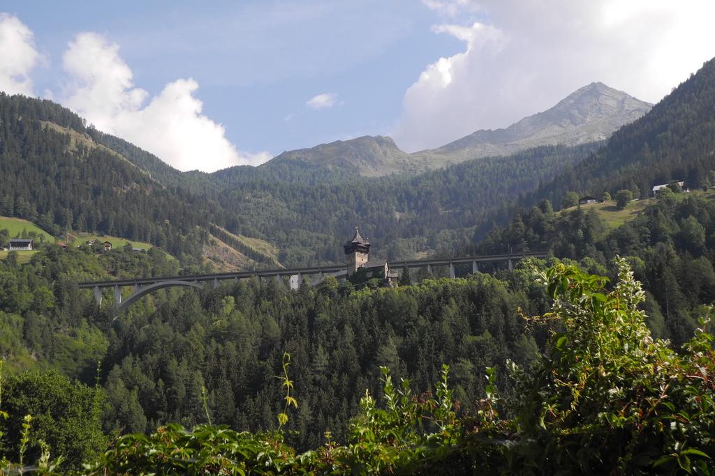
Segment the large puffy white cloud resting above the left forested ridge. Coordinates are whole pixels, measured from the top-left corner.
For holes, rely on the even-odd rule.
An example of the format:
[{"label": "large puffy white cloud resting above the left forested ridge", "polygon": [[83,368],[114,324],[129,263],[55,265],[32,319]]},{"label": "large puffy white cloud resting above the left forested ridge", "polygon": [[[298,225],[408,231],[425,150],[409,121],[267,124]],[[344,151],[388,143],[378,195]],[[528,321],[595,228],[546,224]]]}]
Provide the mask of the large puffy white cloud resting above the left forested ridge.
[{"label": "large puffy white cloud resting above the left forested ridge", "polygon": [[194,79],[172,81],[149,99],[147,91],[134,86],[119,46],[102,35],[78,34],[63,64],[71,76],[61,101],[64,105],[99,130],[130,141],[181,171],[258,165],[271,158],[267,152],[252,154],[235,148],[225,137],[224,126],[202,114]]}]

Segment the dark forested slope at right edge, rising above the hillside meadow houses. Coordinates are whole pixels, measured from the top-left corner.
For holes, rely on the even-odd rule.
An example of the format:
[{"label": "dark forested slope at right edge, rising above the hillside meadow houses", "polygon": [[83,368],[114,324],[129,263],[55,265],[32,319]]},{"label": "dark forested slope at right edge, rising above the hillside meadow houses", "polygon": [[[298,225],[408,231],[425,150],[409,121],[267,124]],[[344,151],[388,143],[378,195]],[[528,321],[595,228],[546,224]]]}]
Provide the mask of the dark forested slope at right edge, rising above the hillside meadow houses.
[{"label": "dark forested slope at right edge, rising above the hillside meadow houses", "polygon": [[715,169],[715,59],[642,118],[613,133],[606,146],[536,191],[531,201],[558,203],[566,191],[600,196],[628,188],[648,196],[671,180],[699,188]]}]

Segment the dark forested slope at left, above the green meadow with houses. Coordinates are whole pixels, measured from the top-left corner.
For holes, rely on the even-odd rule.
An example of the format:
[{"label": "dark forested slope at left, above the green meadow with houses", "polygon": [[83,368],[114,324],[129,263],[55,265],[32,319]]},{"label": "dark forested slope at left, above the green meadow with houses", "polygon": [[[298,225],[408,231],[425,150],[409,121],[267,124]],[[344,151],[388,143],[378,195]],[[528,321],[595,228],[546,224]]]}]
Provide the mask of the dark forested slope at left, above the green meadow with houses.
[{"label": "dark forested slope at left, above the green meadow with houses", "polygon": [[220,214],[94,143],[79,116],[51,101],[0,93],[0,168],[0,215],[54,235],[97,231],[197,256],[197,226]]}]

